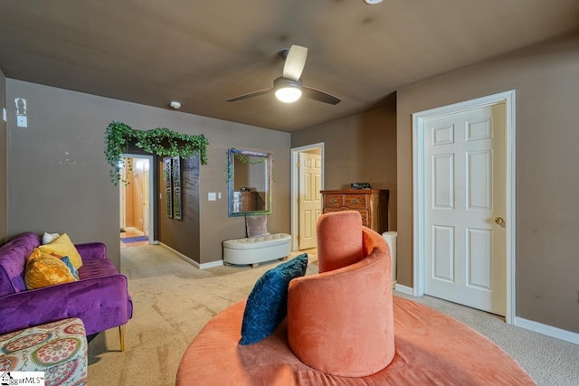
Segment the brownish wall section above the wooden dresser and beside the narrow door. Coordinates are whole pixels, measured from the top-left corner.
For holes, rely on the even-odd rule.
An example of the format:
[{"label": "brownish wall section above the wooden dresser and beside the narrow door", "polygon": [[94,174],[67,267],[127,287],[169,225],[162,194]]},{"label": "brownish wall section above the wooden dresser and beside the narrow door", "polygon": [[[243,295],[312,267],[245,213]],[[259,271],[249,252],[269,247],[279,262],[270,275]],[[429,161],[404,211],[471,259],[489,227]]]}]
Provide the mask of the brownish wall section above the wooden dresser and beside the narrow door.
[{"label": "brownish wall section above the wooden dresser and beside the narrow door", "polygon": [[324,188],[349,189],[367,182],[389,189],[390,231],[396,230],[395,103],[292,133],[291,147],[324,143]]}]

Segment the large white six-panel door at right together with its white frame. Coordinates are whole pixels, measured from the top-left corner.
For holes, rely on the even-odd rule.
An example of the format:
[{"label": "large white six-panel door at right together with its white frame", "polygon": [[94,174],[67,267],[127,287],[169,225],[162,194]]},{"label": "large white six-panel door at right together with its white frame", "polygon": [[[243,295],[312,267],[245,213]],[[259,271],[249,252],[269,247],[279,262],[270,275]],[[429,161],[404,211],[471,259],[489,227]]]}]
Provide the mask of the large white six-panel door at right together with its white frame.
[{"label": "large white six-panel door at right together with its white frame", "polygon": [[515,91],[413,114],[414,296],[515,316]]}]

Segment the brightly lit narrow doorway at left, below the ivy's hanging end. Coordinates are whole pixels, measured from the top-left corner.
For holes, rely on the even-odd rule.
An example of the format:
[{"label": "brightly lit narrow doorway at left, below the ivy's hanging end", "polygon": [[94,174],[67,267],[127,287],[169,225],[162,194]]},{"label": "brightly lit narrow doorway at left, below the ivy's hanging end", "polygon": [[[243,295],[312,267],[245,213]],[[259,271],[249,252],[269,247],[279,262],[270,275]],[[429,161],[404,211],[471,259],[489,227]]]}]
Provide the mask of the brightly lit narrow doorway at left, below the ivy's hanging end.
[{"label": "brightly lit narrow doorway at left, below the ivy's hanging end", "polygon": [[[155,235],[154,179],[152,155],[123,155],[121,175],[127,184],[119,184],[119,231],[121,241],[131,245],[152,244]],[[128,242],[123,242],[128,246]]]}]

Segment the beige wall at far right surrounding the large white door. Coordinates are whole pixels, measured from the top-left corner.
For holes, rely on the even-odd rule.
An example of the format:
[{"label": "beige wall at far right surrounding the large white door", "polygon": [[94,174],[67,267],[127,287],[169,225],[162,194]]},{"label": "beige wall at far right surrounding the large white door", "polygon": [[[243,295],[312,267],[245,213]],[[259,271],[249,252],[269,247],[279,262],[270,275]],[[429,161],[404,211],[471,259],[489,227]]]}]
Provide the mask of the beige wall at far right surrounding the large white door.
[{"label": "beige wall at far right surrounding the large white door", "polygon": [[517,92],[517,310],[579,332],[579,35],[397,92],[398,282],[413,286],[412,113]]}]

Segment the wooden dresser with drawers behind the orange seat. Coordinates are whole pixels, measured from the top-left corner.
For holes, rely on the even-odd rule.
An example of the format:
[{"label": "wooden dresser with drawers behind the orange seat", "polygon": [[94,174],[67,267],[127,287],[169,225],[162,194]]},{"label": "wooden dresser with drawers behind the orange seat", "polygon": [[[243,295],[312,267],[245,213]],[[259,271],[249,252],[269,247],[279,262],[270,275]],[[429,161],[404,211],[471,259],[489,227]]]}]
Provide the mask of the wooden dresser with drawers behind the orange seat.
[{"label": "wooden dresser with drawers behind the orange seat", "polygon": [[323,212],[357,211],[362,225],[382,234],[388,231],[388,196],[377,189],[321,191]]}]

